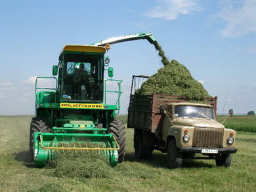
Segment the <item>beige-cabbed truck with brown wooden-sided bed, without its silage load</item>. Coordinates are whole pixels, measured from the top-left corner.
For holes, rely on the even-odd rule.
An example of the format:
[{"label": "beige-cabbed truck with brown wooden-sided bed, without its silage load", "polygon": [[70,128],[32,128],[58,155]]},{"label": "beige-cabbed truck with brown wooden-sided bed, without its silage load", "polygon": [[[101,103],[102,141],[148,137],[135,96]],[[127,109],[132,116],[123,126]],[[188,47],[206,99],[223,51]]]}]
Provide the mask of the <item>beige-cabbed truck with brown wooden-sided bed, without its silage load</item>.
[{"label": "beige-cabbed truck with brown wooden-sided bed, without its silage load", "polygon": [[[236,131],[216,121],[217,96],[190,102],[182,96],[139,95],[133,91],[133,75],[127,127],[134,128],[135,157],[150,159],[152,151],[167,153],[169,168],[184,159],[215,159],[217,166],[231,164]],[[232,115],[232,109],[230,114]]]}]

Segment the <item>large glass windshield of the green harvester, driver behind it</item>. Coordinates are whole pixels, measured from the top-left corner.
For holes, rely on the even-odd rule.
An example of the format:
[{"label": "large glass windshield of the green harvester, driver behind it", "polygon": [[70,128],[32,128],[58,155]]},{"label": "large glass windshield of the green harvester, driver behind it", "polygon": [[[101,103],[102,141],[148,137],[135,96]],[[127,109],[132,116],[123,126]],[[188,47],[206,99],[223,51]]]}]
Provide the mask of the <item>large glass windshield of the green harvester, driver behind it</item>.
[{"label": "large glass windshield of the green harvester, driver behind it", "polygon": [[103,57],[96,54],[66,54],[62,100],[100,102],[102,97]]}]

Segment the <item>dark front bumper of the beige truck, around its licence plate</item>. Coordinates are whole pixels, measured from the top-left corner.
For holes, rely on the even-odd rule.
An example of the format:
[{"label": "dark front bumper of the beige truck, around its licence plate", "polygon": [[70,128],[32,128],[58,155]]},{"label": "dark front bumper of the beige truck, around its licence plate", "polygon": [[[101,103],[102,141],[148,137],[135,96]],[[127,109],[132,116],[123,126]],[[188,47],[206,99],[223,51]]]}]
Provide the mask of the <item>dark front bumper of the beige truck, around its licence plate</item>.
[{"label": "dark front bumper of the beige truck, around its licence plate", "polygon": [[[220,149],[220,148],[206,148],[206,147],[179,147],[179,151],[181,153],[202,153],[202,149],[215,149],[215,150],[218,150],[218,153],[215,153],[215,154],[236,153],[236,151],[238,150],[236,148]],[[202,153],[202,154],[210,154],[210,153]]]}]

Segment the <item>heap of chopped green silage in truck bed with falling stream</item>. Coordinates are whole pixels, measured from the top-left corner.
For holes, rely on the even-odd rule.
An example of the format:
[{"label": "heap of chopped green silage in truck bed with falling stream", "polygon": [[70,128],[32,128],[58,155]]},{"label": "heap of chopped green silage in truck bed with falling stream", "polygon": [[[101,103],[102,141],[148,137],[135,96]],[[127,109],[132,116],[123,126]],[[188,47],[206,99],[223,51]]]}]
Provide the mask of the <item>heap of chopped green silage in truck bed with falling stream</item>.
[{"label": "heap of chopped green silage in truck bed with falling stream", "polygon": [[154,46],[159,50],[163,67],[149,77],[136,91],[137,94],[168,94],[184,96],[187,100],[202,100],[209,94],[202,84],[196,81],[185,66],[165,56],[157,41]]}]

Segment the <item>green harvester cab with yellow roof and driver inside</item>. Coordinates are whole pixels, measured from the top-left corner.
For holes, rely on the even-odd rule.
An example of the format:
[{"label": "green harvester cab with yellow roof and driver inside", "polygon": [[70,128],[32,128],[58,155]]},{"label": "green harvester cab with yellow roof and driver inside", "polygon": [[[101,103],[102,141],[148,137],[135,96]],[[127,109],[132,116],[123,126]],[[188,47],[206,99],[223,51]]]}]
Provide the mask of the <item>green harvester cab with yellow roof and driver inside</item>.
[{"label": "green harvester cab with yellow roof and driver inside", "polygon": [[102,103],[105,51],[104,47],[64,47],[58,64],[60,100]]}]

